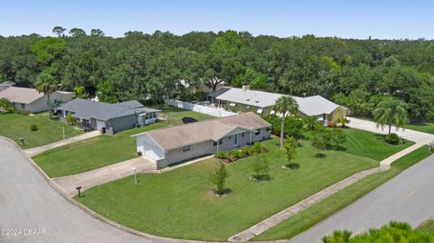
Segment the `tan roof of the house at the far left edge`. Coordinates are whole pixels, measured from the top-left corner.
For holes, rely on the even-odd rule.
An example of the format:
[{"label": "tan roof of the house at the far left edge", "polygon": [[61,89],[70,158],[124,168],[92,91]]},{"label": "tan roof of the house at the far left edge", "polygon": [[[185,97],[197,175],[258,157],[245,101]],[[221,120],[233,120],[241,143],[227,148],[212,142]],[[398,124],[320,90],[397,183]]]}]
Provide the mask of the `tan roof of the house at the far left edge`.
[{"label": "tan roof of the house at the far left edge", "polygon": [[43,93],[39,93],[36,89],[21,88],[11,86],[0,92],[0,98],[6,98],[11,102],[31,104],[36,99],[42,98]]}]

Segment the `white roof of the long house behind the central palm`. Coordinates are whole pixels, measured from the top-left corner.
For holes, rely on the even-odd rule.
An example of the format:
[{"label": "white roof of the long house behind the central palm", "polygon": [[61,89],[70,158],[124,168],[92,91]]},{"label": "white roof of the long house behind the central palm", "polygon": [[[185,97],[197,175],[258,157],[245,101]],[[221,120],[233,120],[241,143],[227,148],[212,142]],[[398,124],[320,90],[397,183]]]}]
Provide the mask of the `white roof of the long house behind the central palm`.
[{"label": "white roof of the long house behind the central palm", "polygon": [[[227,100],[234,103],[240,103],[254,107],[273,107],[276,100],[286,95],[270,93],[260,90],[242,90],[240,88],[231,88],[216,97],[218,99]],[[322,114],[332,113],[339,105],[321,96],[311,97],[295,97],[291,96],[297,101],[298,111],[307,116],[318,116]]]}]

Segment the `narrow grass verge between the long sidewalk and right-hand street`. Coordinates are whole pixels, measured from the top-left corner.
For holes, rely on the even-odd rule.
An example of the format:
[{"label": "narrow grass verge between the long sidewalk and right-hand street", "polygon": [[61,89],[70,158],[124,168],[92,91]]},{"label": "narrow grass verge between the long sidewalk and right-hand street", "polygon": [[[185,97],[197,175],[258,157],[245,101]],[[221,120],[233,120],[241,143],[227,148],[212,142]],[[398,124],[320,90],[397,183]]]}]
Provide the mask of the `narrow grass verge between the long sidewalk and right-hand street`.
[{"label": "narrow grass verge between the long sidewalk and right-hand street", "polygon": [[[401,173],[413,164],[428,157],[430,154],[427,146],[407,154],[392,164],[389,171],[370,175],[359,182],[337,192],[324,201],[316,203],[311,208],[298,213],[296,216],[283,221],[274,228],[271,228],[260,234],[254,240],[275,240],[293,238],[297,234],[309,229],[321,220],[334,214],[336,211],[343,209],[357,199],[361,198],[368,192],[371,192],[382,183],[389,181],[392,177]],[[430,227],[430,228],[429,228]],[[430,223],[424,229],[434,229],[434,223]]]}]

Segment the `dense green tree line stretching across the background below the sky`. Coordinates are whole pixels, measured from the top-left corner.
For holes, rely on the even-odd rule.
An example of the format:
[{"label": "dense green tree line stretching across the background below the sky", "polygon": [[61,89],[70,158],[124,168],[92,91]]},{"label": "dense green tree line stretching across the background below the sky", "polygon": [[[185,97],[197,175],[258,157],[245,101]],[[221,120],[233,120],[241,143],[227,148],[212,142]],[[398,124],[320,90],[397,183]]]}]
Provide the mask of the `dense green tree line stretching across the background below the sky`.
[{"label": "dense green tree line stretching across the background below the sky", "polygon": [[[314,35],[278,38],[247,32],[127,32],[56,26],[58,37],[0,36],[0,81],[34,87],[38,77],[61,89],[83,87],[117,102],[159,103],[190,86],[227,85],[294,96],[321,95],[372,117],[384,97],[408,105],[412,121],[434,120],[434,42],[344,40]],[[40,78],[41,79],[41,78]]]}]

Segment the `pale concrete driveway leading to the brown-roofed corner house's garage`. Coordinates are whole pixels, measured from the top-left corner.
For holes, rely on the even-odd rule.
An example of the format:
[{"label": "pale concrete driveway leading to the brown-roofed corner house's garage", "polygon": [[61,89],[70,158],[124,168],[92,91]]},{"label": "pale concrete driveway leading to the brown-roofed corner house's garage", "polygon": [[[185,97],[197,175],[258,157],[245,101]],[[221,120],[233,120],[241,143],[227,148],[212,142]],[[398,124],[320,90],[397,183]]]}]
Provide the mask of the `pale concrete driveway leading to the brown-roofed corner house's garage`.
[{"label": "pale concrete driveway leading to the brown-roofed corner house's garage", "polygon": [[76,187],[78,186],[81,186],[81,192],[83,192],[91,187],[125,178],[134,173],[134,167],[136,167],[136,173],[160,173],[155,169],[156,165],[153,162],[142,156],[85,173],[56,177],[52,179],[52,182],[72,197],[77,194]]}]

